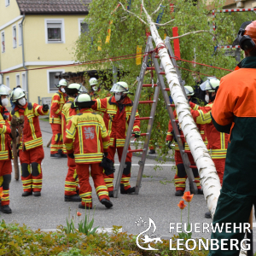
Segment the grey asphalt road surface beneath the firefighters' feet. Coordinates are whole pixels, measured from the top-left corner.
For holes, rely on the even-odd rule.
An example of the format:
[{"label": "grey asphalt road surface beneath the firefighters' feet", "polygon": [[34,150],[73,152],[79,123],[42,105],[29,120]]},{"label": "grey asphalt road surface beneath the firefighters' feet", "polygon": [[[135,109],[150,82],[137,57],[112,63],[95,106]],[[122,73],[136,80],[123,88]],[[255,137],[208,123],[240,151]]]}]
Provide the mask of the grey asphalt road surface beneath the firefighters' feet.
[{"label": "grey asphalt road surface beneath the firefighters' feet", "polygon": [[[44,161],[43,161],[43,190],[42,196],[21,197],[22,183],[15,181],[14,178],[10,184],[10,207],[12,214],[3,214],[0,212],[0,218],[8,223],[17,222],[26,224],[34,230],[54,230],[59,224],[66,224],[68,215],[75,216],[79,209],[78,202],[64,201],[64,182],[67,174],[67,159],[50,159],[49,148],[46,144],[49,142],[51,134],[48,122],[41,121],[44,140]],[[132,159],[131,185],[135,185],[137,180],[138,157]],[[116,160],[116,163],[119,163]],[[122,226],[123,231],[136,234],[145,230],[137,227],[136,222],[139,218],[147,222],[152,218],[156,224],[156,234],[164,237],[170,237],[170,223],[180,222],[180,210],[177,207],[181,197],[174,196],[175,187],[172,183],[174,171],[172,171],[173,162],[168,161],[160,166],[161,170],[154,170],[157,162],[147,160],[147,166],[144,170],[142,188],[139,195],[119,195],[119,198],[111,199],[113,208],[106,209],[97,199],[96,192],[93,189],[93,205],[96,207],[94,212],[95,224],[100,228],[111,228],[113,225]],[[117,166],[118,167],[118,166]],[[118,168],[116,168],[118,170]],[[92,184],[92,183],[91,183]],[[188,186],[187,186],[188,188]],[[84,215],[84,210],[79,209]],[[93,211],[91,212],[91,216]],[[190,204],[190,219],[195,223],[211,223],[211,219],[204,218],[207,212],[207,204],[203,195],[195,195]],[[183,221],[187,220],[188,207],[183,210]],[[194,233],[195,237],[201,237],[201,233]],[[205,233],[204,237],[210,234]]]}]

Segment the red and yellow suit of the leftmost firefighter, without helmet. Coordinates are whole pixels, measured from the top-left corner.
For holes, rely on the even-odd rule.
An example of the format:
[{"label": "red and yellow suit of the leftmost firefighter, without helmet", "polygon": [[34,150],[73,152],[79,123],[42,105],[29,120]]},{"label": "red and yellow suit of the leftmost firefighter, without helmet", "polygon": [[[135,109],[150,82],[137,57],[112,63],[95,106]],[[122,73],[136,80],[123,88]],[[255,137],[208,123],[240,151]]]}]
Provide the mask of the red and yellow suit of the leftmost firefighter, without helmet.
[{"label": "red and yellow suit of the leftmost firefighter, without helmet", "polygon": [[9,206],[9,183],[12,172],[11,138],[9,137],[11,129],[8,120],[8,110],[0,105],[0,187],[3,187],[2,206]]}]

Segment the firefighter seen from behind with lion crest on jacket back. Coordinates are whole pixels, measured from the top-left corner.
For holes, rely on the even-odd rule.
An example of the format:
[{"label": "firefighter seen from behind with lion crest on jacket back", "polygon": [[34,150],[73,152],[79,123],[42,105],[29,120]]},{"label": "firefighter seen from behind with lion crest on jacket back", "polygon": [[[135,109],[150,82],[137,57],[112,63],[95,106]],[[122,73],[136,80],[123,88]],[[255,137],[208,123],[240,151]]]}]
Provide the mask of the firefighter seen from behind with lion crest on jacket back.
[{"label": "firefighter seen from behind with lion crest on jacket back", "polygon": [[87,93],[77,96],[75,104],[80,113],[69,121],[64,138],[67,154],[74,158],[79,175],[79,195],[82,198],[79,208],[86,209],[92,208],[90,175],[101,203],[107,208],[113,207],[100,166],[102,155],[108,154],[108,131],[102,117],[90,109],[94,103]]}]

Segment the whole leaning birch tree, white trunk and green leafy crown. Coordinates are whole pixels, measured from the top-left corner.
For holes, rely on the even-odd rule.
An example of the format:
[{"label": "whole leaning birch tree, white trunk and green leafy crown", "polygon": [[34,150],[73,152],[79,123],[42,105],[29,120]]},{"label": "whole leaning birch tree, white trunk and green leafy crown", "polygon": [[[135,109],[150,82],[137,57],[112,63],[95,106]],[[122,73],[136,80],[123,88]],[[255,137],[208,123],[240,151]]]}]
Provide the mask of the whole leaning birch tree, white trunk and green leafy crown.
[{"label": "whole leaning birch tree, white trunk and green leafy crown", "polygon": [[[117,7],[118,4],[119,7]],[[131,10],[125,9],[125,4],[125,1],[110,0],[103,2],[95,0],[90,3],[90,15],[85,19],[89,23],[90,32],[82,34],[77,42],[76,61],[93,61],[121,55],[132,55],[136,52],[138,46],[144,48],[146,42],[145,32],[148,27],[156,46],[163,45],[161,38],[164,38],[165,34],[171,36],[170,25],[172,25],[178,26],[181,35],[187,34],[186,37],[180,39],[183,59],[193,60],[196,56],[196,61],[207,63],[208,65],[230,69],[235,67],[236,60],[224,56],[224,52],[221,50],[214,51],[214,46],[216,46],[217,42],[224,43],[228,35],[236,35],[236,24],[234,26],[225,26],[230,18],[223,19],[223,15],[218,15],[216,22],[218,22],[219,28],[215,35],[215,41],[213,41],[213,31],[210,26],[212,17],[209,16],[206,3],[196,5],[195,1],[177,0],[175,2],[175,11],[172,14],[169,9],[170,2],[167,0],[160,1],[160,4],[156,0],[147,1],[145,5],[143,0],[134,0],[131,4],[132,13]],[[222,3],[216,1],[214,4],[219,7]],[[161,18],[161,26],[158,25],[159,27],[157,27],[153,20],[156,20],[160,15],[161,5],[165,6],[165,12]],[[148,15],[149,13],[151,15]],[[224,25],[222,25],[222,22]],[[106,38],[108,39],[106,40]],[[215,166],[190,115],[189,104],[183,96],[175,68],[172,66],[172,61],[166,52],[166,48],[160,49],[159,55],[166,72],[166,83],[170,87],[172,99],[176,105],[179,123],[189,143],[189,148],[201,176],[207,206],[213,213],[220,190]],[[134,59],[126,59],[114,64],[111,62],[100,63],[95,65],[94,68],[109,70],[112,65],[119,67],[121,79],[133,84],[131,90],[136,90],[134,81],[139,73],[140,65],[136,65]],[[200,69],[201,73],[217,77],[227,73],[224,70],[211,69],[206,66],[194,67],[188,62],[180,62],[178,65],[194,71]],[[152,77],[150,73],[148,74],[148,83],[151,83]],[[192,83],[191,73],[183,71],[182,75],[187,84]],[[111,81],[112,78],[109,77],[107,83],[112,84]],[[143,96],[149,97],[151,93],[151,91],[146,90]],[[160,101],[162,101],[161,97]],[[147,107],[140,108],[139,112],[142,116],[147,116],[147,113],[149,113]],[[164,141],[165,134],[162,134],[162,131],[167,130],[168,119],[166,109],[159,104],[155,117],[153,139],[159,141],[160,136],[162,136],[162,142]],[[145,130],[143,125],[142,129]]]}]

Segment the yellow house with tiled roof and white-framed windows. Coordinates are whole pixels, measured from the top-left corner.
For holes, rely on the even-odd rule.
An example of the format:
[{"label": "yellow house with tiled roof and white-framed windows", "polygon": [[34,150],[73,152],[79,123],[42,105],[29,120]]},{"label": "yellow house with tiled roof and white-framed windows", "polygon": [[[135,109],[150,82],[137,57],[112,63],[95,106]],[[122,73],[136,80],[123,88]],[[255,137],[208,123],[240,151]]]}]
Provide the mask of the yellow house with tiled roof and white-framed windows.
[{"label": "yellow house with tiled roof and white-framed windows", "polygon": [[[58,75],[76,72],[73,48],[90,0],[1,0],[0,84],[21,85],[30,102],[56,91]],[[32,70],[34,69],[34,70]]]}]

